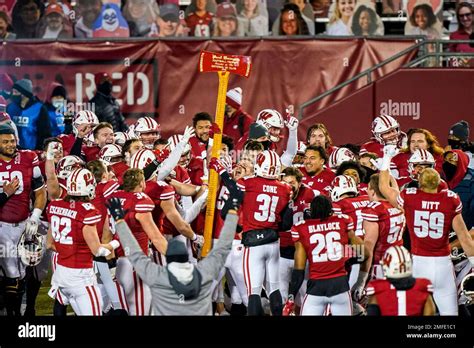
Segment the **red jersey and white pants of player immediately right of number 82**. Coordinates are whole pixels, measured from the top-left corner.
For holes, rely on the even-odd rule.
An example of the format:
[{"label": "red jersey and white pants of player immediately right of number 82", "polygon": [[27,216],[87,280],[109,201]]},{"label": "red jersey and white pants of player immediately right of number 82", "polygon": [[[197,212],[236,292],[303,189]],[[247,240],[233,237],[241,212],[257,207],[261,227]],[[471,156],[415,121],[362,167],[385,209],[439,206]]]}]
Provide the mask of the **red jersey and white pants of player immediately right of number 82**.
[{"label": "red jersey and white pants of player immediately right of number 82", "polygon": [[[137,214],[151,213],[155,208],[153,201],[143,192],[116,191],[112,197],[117,197],[122,201],[122,207],[127,214],[125,222],[132,231],[140,248],[145,255],[148,255],[148,236],[140,222],[136,219]],[[116,278],[122,286],[126,306],[130,315],[148,315],[151,309],[151,291],[148,285],[144,284],[132,267],[130,261],[124,255],[123,249],[119,247],[115,250],[119,257],[117,260]]]}]

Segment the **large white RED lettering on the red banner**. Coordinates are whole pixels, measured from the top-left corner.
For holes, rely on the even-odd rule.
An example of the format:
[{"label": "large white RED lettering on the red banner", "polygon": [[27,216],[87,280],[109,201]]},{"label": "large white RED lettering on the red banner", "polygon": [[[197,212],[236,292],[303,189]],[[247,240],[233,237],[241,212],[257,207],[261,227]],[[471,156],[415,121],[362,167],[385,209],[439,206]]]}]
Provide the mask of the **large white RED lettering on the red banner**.
[{"label": "large white RED lettering on the red banner", "polygon": [[[121,93],[122,90],[126,91],[124,100],[117,98],[120,106],[122,106],[124,101],[127,105],[144,105],[150,99],[150,81],[146,74],[142,72],[129,72],[125,76],[120,72],[114,72],[111,77],[113,80],[112,91],[115,95]],[[92,99],[96,92],[94,74],[76,73],[75,80],[76,103],[81,104],[84,99]],[[141,93],[138,93],[140,90]]]}]

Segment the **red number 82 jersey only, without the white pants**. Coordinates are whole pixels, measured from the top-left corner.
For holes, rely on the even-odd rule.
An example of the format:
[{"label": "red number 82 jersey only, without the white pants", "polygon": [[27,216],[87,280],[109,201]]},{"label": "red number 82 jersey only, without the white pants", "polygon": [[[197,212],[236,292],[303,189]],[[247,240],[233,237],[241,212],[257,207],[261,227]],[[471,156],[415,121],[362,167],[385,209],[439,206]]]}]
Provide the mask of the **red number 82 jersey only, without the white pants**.
[{"label": "red number 82 jersey only, without the white pants", "polygon": [[100,212],[91,203],[54,200],[48,206],[48,221],[58,253],[58,264],[69,268],[92,268],[92,252],[84,240],[84,226],[100,222]]}]

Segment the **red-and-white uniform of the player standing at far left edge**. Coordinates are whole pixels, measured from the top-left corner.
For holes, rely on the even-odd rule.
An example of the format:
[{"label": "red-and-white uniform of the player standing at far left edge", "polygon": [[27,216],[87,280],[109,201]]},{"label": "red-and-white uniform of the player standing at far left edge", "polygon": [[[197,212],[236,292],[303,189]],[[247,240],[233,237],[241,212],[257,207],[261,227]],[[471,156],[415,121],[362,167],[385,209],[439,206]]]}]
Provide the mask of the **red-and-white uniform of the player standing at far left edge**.
[{"label": "red-and-white uniform of the player standing at far left edge", "polygon": [[30,215],[30,197],[33,191],[44,187],[38,167],[38,156],[30,150],[20,150],[10,161],[0,159],[0,192],[5,181],[20,181],[18,190],[0,207],[0,267],[8,278],[23,277],[25,266],[16,256],[20,236]]}]

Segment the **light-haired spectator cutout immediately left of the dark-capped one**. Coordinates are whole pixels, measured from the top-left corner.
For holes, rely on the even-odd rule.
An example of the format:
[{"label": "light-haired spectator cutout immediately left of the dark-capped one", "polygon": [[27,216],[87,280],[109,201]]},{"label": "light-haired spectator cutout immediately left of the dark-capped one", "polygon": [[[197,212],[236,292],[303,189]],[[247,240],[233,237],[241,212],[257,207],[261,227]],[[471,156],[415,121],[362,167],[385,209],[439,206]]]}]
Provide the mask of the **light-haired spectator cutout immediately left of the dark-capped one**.
[{"label": "light-haired spectator cutout immediately left of the dark-capped one", "polygon": [[160,15],[155,0],[127,0],[122,12],[133,37],[147,36]]}]

